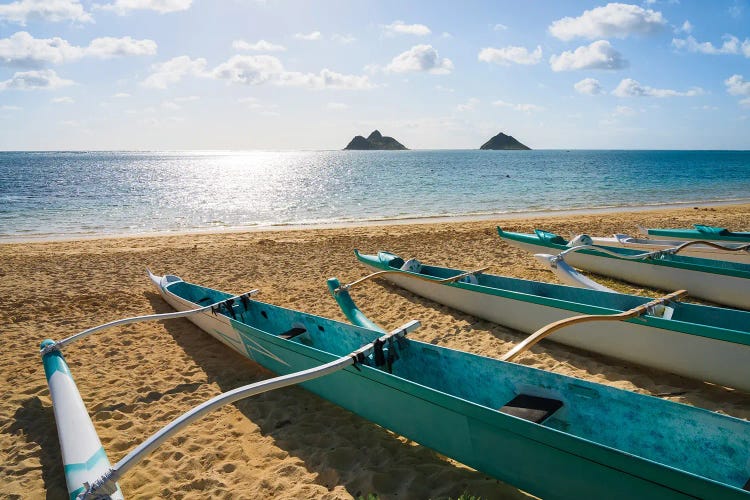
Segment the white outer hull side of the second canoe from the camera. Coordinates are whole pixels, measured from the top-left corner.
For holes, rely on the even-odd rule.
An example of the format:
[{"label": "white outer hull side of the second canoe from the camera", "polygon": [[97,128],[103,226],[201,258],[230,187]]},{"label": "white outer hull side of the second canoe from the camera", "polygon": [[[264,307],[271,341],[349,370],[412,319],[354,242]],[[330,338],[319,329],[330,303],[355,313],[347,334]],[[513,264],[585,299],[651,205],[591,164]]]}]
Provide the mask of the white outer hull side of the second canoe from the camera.
[{"label": "white outer hull side of the second canoe from the camera", "polygon": [[[373,271],[380,267],[361,262]],[[473,291],[468,287],[384,275],[417,295],[481,319],[530,334],[580,312]],[[476,287],[479,288],[479,287]],[[750,392],[750,346],[654,328],[637,322],[583,323],[556,332],[549,340],[684,377]]]}]

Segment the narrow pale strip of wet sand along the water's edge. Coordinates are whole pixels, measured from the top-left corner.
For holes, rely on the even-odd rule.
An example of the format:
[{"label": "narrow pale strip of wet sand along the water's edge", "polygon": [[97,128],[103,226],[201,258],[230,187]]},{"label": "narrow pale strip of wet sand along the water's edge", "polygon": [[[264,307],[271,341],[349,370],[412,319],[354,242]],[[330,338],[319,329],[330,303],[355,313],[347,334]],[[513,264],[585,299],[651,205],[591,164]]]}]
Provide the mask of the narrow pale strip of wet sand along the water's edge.
[{"label": "narrow pale strip of wet sand along the water's edge", "polygon": [[313,223],[289,223],[289,224],[269,224],[269,225],[249,225],[249,226],[230,226],[230,227],[212,227],[212,228],[192,228],[185,230],[163,230],[163,231],[144,231],[144,232],[115,232],[115,233],[96,233],[96,234],[75,234],[70,236],[52,234],[40,236],[9,236],[0,235],[0,245],[7,244],[25,244],[25,243],[50,243],[66,241],[84,241],[98,239],[128,239],[128,238],[152,238],[163,236],[189,236],[204,234],[237,234],[237,233],[258,233],[258,232],[277,232],[277,231],[304,231],[304,230],[326,230],[326,229],[346,229],[346,228],[367,228],[381,226],[401,226],[401,225],[423,225],[423,224],[445,224],[453,222],[486,222],[486,221],[512,221],[531,218],[559,218],[570,216],[586,215],[606,215],[606,214],[624,214],[624,213],[643,213],[658,212],[683,208],[712,208],[725,206],[742,206],[750,205],[750,198],[737,200],[714,200],[714,201],[684,201],[675,203],[666,203],[662,205],[626,205],[612,207],[587,207],[587,208],[568,208],[555,210],[527,210],[520,212],[495,212],[488,214],[467,214],[467,215],[433,215],[417,216],[403,218],[384,218],[384,219],[367,219],[355,221],[333,221],[333,222],[313,222]]}]

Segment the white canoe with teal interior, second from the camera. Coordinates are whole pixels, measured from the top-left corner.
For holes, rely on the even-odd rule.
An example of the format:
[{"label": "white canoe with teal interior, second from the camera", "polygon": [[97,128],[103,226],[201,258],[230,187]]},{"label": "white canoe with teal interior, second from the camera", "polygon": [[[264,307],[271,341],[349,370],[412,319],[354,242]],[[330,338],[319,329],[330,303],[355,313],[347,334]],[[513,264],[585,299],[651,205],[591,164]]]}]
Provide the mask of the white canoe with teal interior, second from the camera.
[{"label": "white canoe with teal interior, second from the camera", "polygon": [[[485,272],[407,262],[389,252],[360,263],[440,304],[531,334],[580,314],[618,314],[651,299]],[[376,274],[377,275],[377,274]],[[581,323],[549,337],[561,344],[750,392],[750,312],[670,301],[621,322]]]}]

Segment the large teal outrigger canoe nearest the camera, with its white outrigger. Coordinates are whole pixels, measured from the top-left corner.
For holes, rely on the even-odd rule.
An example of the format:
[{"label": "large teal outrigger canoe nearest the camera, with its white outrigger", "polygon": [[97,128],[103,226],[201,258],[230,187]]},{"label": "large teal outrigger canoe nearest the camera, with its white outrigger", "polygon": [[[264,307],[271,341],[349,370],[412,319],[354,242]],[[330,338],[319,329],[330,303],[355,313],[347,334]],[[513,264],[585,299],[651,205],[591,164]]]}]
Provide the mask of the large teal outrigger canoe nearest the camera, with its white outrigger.
[{"label": "large teal outrigger canoe nearest the camera, with its white outrigger", "polygon": [[[81,464],[75,480],[83,485],[69,483],[71,498],[119,494],[116,480],[187,423],[262,392],[260,386],[293,383],[545,498],[750,498],[745,420],[411,340],[405,335],[413,324],[383,335],[346,291],[336,294],[337,301],[365,326],[258,302],[250,294],[231,296],[176,276],[152,279],[180,312],[141,319],[182,315],[282,375],[178,417],[98,479],[86,477]],[[330,289],[337,287],[329,280]],[[60,349],[66,341],[45,342],[50,381],[65,363]],[[80,399],[74,384],[72,389]],[[86,427],[79,420],[88,421],[85,408],[68,405],[68,396],[52,392],[61,441]]]}]

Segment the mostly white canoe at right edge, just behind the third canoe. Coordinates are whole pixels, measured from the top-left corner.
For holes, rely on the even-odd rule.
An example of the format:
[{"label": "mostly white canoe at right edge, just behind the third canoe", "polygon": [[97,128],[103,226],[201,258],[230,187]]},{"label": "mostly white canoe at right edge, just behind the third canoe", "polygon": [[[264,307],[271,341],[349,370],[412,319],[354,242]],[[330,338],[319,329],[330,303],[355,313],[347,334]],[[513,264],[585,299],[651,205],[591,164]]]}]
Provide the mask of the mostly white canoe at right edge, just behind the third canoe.
[{"label": "mostly white canoe at right edge, just behind the third canoe", "polygon": [[[585,235],[577,236],[579,241],[585,240]],[[573,238],[575,240],[576,238]],[[631,248],[639,251],[669,250],[684,245],[682,240],[658,240],[651,238],[634,238],[626,234],[615,234],[610,238],[591,236],[591,243],[610,247]],[[695,240],[691,240],[695,241]],[[726,248],[722,250],[709,245],[693,245],[685,248],[681,255],[697,257],[699,259],[728,260],[750,264],[750,245],[747,243],[722,243]]]}]

